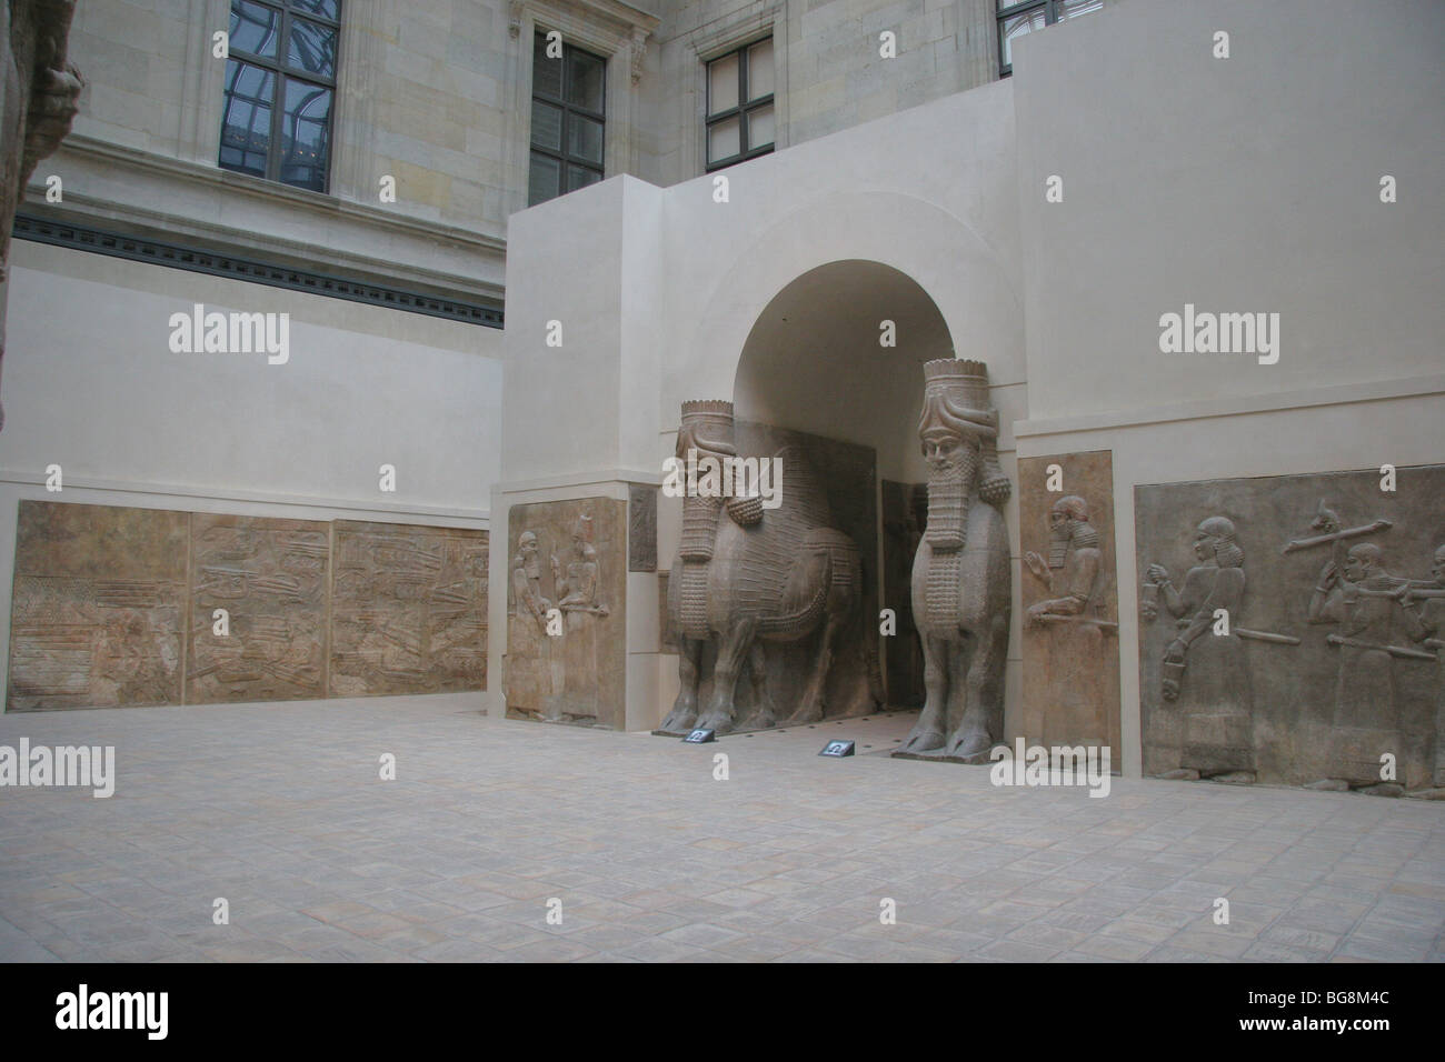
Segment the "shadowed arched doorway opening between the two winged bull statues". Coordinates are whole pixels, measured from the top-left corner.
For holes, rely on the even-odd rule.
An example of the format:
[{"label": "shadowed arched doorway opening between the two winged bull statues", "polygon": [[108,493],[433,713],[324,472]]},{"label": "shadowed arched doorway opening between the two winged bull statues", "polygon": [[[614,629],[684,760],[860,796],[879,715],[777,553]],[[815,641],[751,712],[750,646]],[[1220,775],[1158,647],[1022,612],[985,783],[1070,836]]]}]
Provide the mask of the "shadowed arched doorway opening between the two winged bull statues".
[{"label": "shadowed arched doorway opening between the two winged bull statues", "polygon": [[896,634],[879,639],[896,708],[923,698],[909,597],[928,478],[916,435],[923,363],[951,357],[944,315],[918,282],[879,262],[831,262],[769,301],[733,384],[740,431],[757,433],[757,452],[793,441],[788,432],[815,439],[809,452],[840,529],[863,549],[871,616],[892,608],[896,618]]}]

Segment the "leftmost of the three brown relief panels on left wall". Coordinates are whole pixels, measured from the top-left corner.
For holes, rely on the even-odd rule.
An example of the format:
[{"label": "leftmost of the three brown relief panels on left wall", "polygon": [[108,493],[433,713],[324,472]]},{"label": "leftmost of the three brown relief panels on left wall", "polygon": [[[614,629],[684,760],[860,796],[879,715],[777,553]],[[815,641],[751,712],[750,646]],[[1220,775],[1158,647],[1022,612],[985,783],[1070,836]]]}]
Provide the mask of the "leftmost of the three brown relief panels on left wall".
[{"label": "leftmost of the three brown relief panels on left wall", "polygon": [[20,503],[9,711],[181,704],[189,520]]}]

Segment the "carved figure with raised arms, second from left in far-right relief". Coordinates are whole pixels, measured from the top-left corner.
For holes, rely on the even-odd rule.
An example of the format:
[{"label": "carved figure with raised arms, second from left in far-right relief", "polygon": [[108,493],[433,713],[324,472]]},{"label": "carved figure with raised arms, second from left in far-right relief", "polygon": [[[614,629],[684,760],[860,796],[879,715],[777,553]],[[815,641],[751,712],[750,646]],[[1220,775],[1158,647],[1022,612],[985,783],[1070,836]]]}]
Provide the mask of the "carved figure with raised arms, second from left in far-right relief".
[{"label": "carved figure with raised arms, second from left in far-right relief", "polygon": [[[1400,705],[1394,657],[1420,656],[1399,644],[1413,617],[1405,608],[1409,581],[1390,575],[1373,542],[1351,546],[1344,571],[1327,561],[1309,598],[1311,623],[1337,623],[1328,642],[1340,647],[1331,779],[1355,786],[1381,782],[1380,756],[1400,757]],[[1342,577],[1342,578],[1341,578]]]}]

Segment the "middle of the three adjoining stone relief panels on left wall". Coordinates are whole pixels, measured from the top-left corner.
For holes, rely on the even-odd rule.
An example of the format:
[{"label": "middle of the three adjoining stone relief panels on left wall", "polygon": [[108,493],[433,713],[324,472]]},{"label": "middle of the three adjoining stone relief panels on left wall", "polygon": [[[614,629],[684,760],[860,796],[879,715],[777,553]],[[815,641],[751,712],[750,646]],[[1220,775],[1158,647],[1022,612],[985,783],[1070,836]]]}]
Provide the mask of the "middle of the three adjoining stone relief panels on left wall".
[{"label": "middle of the three adjoining stone relief panels on left wall", "polygon": [[327,523],[192,514],[186,702],[325,696],[329,566]]}]

